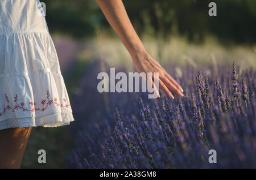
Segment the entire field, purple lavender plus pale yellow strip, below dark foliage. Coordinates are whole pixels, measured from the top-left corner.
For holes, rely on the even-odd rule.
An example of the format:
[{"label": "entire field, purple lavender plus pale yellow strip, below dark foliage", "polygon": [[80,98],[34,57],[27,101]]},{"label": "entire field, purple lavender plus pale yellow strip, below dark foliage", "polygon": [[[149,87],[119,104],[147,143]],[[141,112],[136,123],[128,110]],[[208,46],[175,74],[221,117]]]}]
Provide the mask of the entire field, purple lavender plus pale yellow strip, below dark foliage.
[{"label": "entire field, purple lavender plus pale yellow strip, below dark foliage", "polygon": [[[101,32],[88,41],[53,40],[76,121],[33,128],[22,168],[256,168],[255,46],[144,38],[185,91],[149,100],[97,91],[99,72],[135,72],[118,39]],[[48,163],[38,164],[38,149]],[[209,149],[217,164],[209,164]]]}]

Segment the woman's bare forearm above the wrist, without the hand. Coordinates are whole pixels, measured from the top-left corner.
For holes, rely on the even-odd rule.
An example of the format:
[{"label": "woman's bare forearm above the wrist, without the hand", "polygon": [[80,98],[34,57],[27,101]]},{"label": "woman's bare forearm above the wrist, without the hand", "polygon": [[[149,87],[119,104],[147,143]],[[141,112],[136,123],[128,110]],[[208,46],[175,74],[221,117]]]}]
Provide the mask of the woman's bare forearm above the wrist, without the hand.
[{"label": "woman's bare forearm above the wrist, without the hand", "polygon": [[132,57],[146,52],[135,32],[121,0],[96,0],[109,24]]}]

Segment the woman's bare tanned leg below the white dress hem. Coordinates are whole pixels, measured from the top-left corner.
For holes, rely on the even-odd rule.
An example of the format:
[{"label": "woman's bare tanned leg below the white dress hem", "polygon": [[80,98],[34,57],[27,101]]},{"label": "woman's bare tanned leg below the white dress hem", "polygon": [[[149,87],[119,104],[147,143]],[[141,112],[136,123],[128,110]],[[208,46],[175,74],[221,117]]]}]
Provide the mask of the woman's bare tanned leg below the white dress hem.
[{"label": "woman's bare tanned leg below the white dress hem", "polygon": [[20,168],[31,127],[0,130],[0,169]]}]

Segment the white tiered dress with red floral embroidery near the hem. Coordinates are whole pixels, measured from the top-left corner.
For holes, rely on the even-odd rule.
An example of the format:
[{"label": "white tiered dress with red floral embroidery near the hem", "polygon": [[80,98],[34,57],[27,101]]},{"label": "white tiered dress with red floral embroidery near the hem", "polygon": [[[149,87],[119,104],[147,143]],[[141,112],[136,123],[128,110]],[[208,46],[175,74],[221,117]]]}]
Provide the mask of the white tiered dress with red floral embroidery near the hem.
[{"label": "white tiered dress with red floral embroidery near the hem", "polygon": [[0,130],[74,121],[39,0],[0,0]]}]

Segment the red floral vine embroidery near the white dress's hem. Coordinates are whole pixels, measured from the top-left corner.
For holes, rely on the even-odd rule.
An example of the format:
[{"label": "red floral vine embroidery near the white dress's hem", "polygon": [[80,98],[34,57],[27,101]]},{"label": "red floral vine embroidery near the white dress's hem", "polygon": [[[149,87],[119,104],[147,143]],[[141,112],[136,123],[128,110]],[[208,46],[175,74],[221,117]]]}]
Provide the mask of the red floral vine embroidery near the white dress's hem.
[{"label": "red floral vine embroidery near the white dress's hem", "polygon": [[[6,110],[11,110],[12,112],[15,112],[15,110],[21,109],[23,112],[27,111],[27,112],[35,112],[35,111],[42,111],[44,112],[44,110],[46,110],[48,108],[49,105],[55,104],[56,106],[60,106],[60,107],[64,107],[64,108],[68,108],[70,106],[70,104],[60,104],[60,102],[58,102],[58,99],[55,97],[53,98],[53,100],[51,100],[49,97],[49,91],[47,91],[47,99],[46,100],[41,100],[41,104],[45,105],[43,108],[36,108],[36,102],[28,102],[28,104],[31,106],[31,109],[28,108],[24,108],[24,102],[20,102],[20,104],[18,104],[18,95],[15,95],[14,97],[14,107],[11,107],[9,105],[9,99],[8,96],[5,94],[5,101],[7,102],[7,105],[5,108],[3,108],[3,112],[0,112],[0,116],[2,116],[3,114],[5,114]],[[66,102],[67,100],[65,98],[63,98],[63,100]],[[0,108],[1,110],[1,108]]]}]

